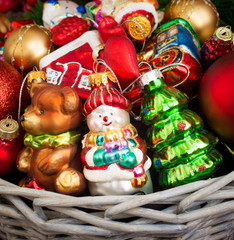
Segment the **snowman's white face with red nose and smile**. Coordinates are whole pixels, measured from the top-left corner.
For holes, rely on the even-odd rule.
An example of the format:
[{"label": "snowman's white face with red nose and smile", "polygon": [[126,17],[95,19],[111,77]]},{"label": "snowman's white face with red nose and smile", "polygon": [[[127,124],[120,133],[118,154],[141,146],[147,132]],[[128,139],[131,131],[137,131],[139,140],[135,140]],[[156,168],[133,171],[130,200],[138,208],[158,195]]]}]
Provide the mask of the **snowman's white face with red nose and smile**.
[{"label": "snowman's white face with red nose and smile", "polygon": [[130,123],[129,113],[121,108],[101,105],[87,116],[87,125],[92,132],[123,127]]}]

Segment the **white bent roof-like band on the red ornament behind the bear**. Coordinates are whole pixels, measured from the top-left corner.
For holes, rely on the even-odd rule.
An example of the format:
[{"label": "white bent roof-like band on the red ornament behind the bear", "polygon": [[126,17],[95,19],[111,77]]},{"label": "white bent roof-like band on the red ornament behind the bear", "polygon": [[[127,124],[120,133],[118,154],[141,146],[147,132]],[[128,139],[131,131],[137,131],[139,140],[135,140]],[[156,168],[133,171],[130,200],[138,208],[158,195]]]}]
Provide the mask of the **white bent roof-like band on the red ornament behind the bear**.
[{"label": "white bent roof-like band on the red ornament behind the bear", "polygon": [[51,62],[64,56],[65,54],[73,51],[74,49],[77,49],[78,47],[82,46],[85,43],[89,43],[89,45],[92,49],[94,49],[96,46],[101,44],[97,30],[85,32],[79,38],[73,40],[72,42],[58,48],[57,50],[53,51],[52,53],[41,58],[40,63],[39,63],[40,70],[42,68],[46,67]]}]

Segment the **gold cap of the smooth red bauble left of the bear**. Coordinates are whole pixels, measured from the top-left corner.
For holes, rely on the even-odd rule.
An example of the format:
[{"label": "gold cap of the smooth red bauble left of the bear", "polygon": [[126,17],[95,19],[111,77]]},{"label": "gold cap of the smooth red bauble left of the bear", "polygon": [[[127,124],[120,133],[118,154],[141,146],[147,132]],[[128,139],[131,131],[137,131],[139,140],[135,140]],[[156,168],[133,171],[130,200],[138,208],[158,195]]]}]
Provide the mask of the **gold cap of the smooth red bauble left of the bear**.
[{"label": "gold cap of the smooth red bauble left of the bear", "polygon": [[0,121],[0,138],[13,140],[19,136],[19,124],[11,116]]}]

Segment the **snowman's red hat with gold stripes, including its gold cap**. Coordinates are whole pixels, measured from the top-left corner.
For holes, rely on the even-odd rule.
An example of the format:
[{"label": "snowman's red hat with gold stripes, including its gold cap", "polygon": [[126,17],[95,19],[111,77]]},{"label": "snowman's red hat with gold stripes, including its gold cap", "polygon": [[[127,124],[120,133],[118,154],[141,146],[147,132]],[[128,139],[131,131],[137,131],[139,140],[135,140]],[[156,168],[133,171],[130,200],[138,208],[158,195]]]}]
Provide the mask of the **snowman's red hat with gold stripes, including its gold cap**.
[{"label": "snowman's red hat with gold stripes, including its gold cap", "polygon": [[121,108],[127,112],[131,111],[131,102],[113,87],[113,83],[116,82],[117,80],[111,72],[99,72],[89,75],[89,85],[93,89],[84,103],[84,116],[89,115],[101,105]]}]

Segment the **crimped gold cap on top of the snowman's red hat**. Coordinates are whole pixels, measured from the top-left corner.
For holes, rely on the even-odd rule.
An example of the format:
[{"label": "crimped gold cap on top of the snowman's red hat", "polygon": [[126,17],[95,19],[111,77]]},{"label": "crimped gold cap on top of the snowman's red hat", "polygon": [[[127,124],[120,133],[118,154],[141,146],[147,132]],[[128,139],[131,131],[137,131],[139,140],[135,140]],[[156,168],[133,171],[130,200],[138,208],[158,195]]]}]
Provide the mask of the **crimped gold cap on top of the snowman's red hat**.
[{"label": "crimped gold cap on top of the snowman's red hat", "polygon": [[113,83],[116,83],[117,80],[114,77],[112,72],[99,72],[99,73],[93,73],[89,75],[89,86],[95,87],[100,86],[101,84],[107,85],[107,83],[110,80]]}]

